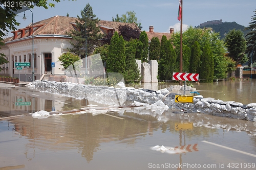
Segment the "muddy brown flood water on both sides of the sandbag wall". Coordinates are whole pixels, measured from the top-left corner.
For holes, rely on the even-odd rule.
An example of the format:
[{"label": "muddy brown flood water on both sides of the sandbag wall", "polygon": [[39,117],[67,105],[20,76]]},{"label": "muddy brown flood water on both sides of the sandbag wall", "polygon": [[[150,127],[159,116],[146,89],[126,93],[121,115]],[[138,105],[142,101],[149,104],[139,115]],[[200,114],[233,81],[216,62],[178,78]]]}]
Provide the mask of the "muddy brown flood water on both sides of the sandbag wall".
[{"label": "muddy brown flood water on both sides of the sandbag wall", "polygon": [[[141,87],[151,86],[155,90],[156,86],[170,84],[175,85]],[[192,84],[204,98],[256,103],[256,80]],[[0,170],[256,167],[255,122],[203,113],[175,114],[170,109],[163,113],[165,119],[159,121],[150,110],[141,114],[136,107],[123,114],[65,114],[48,118],[27,114],[79,109],[88,104],[86,100],[1,85],[0,117],[25,115],[0,119]],[[152,150],[156,145],[171,149],[163,153]]]}]

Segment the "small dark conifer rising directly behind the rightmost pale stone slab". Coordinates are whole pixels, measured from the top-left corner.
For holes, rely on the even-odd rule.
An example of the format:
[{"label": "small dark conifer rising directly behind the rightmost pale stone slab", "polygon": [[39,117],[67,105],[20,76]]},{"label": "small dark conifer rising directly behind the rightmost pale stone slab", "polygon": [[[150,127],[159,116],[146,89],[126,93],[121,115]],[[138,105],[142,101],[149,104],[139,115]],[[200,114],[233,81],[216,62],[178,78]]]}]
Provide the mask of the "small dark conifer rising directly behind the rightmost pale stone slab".
[{"label": "small dark conifer rising directly behind the rightmost pale stone slab", "polygon": [[157,60],[159,61],[160,56],[160,41],[158,37],[153,37],[148,47],[148,60]]}]

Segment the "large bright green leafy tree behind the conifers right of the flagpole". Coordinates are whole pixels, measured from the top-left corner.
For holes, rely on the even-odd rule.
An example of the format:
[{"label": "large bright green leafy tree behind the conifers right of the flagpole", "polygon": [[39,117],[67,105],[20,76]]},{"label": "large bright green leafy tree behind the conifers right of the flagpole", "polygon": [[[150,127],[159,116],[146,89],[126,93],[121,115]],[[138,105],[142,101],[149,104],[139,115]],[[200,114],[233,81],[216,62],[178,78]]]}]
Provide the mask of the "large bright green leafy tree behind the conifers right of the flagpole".
[{"label": "large bright green leafy tree behind the conifers right of the flagpole", "polygon": [[[178,48],[180,46],[180,33],[174,33],[171,39],[174,46],[176,47],[175,49],[177,49],[176,51],[179,51]],[[197,46],[195,46],[196,42],[198,43]],[[202,47],[208,44],[211,48],[212,55],[214,56],[214,78],[223,79],[224,77],[227,77],[227,69],[231,69],[227,67],[231,66],[232,64],[230,65],[226,63],[227,60],[224,59],[226,50],[224,42],[220,39],[219,33],[214,33],[210,29],[198,29],[189,27],[183,33],[183,44],[187,45],[191,49],[189,70],[191,73],[200,73],[200,67],[202,67],[200,59]]]}]

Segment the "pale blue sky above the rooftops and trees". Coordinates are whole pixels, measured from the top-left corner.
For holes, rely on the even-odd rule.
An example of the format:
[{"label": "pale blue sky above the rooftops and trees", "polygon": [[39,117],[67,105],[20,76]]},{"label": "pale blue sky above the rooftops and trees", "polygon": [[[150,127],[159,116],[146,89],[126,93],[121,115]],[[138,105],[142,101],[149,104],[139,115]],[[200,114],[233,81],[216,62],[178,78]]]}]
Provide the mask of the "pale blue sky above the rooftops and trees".
[{"label": "pale blue sky above the rooftops and trees", "polygon": [[[81,10],[90,4],[93,13],[100,20],[112,21],[116,14],[121,16],[126,11],[134,11],[138,21],[141,22],[142,31],[149,31],[154,26],[154,32],[168,33],[169,28],[180,31],[178,16],[179,0],[76,0],[55,3],[55,8],[35,7],[33,11],[34,22],[47,19],[56,15],[70,17],[80,16]],[[251,17],[255,15],[255,0],[183,0],[183,30],[187,27],[199,26],[208,20],[220,20],[223,22],[237,22],[247,27]],[[16,20],[20,23],[17,29],[25,28],[32,22],[32,13],[26,11],[27,20],[23,20],[23,14],[19,13]],[[8,33],[9,35],[12,33]],[[12,36],[12,35],[11,35]]]}]

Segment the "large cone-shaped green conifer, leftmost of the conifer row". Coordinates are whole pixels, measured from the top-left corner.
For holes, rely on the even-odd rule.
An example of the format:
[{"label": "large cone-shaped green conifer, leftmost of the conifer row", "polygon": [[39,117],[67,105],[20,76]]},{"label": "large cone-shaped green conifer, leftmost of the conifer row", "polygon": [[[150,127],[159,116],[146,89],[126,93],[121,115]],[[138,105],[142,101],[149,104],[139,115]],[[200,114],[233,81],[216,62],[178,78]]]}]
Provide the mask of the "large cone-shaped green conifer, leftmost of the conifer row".
[{"label": "large cone-shaped green conifer, leftmost of the conifer row", "polygon": [[108,60],[106,62],[107,72],[118,72],[122,74],[125,70],[125,46],[122,36],[117,32],[111,38]]}]

